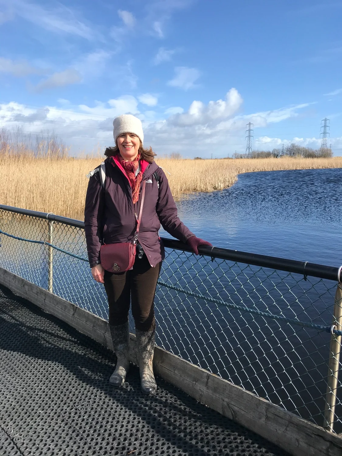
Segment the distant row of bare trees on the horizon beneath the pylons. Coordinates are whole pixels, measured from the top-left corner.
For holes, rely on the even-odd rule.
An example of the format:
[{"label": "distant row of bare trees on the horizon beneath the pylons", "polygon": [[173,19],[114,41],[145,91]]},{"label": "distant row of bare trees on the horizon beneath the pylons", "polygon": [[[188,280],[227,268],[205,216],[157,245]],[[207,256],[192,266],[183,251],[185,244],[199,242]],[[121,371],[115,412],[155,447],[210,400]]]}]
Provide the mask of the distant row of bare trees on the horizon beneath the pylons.
[{"label": "distant row of bare trees on the horizon beneath the pylons", "polygon": [[328,158],[332,157],[331,149],[311,149],[311,147],[303,147],[292,143],[282,149],[273,150],[254,150],[252,154],[238,154],[235,152],[233,158],[278,158],[278,157],[294,157],[294,158]]}]

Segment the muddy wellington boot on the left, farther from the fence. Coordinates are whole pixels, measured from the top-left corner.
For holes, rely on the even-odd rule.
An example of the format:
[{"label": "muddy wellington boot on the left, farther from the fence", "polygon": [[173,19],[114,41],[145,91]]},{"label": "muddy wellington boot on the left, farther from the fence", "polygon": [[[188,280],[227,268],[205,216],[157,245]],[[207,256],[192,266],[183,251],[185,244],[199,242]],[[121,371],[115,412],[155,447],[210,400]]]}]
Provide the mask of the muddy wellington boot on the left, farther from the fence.
[{"label": "muddy wellington boot on the left, farther from the fence", "polygon": [[114,372],[109,378],[109,383],[113,386],[124,384],[126,373],[130,368],[130,331],[128,321],[123,325],[109,325],[110,335],[112,336],[113,348],[118,358]]}]

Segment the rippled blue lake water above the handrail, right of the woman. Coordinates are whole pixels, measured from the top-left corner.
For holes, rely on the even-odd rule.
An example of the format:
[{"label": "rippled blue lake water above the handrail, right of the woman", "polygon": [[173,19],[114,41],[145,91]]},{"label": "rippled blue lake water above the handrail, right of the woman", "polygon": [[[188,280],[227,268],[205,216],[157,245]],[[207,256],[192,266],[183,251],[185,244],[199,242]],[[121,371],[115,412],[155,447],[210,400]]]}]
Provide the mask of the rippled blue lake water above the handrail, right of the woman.
[{"label": "rippled blue lake water above the handrail, right of the woman", "polygon": [[341,197],[342,168],[263,171],[177,206],[181,220],[217,247],[340,266]]}]

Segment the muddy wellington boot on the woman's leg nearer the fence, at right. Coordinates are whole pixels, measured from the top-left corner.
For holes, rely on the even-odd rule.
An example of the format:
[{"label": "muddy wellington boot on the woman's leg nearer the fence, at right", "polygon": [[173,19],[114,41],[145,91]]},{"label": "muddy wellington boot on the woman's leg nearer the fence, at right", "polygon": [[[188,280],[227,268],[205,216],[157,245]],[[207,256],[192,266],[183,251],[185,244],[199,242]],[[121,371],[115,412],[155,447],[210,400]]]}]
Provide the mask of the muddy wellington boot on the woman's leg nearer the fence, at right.
[{"label": "muddy wellington boot on the woman's leg nearer the fence, at right", "polygon": [[155,329],[153,331],[135,330],[138,353],[141,390],[145,394],[154,394],[157,385],[153,375],[153,352],[155,348]]}]

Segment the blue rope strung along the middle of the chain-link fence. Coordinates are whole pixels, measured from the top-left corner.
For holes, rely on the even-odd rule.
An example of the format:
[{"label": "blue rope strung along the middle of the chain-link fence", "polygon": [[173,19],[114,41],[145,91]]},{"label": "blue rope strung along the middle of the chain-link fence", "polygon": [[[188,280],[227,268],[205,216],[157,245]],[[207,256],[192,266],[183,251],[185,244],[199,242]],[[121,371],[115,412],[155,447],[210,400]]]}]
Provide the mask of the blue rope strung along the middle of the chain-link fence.
[{"label": "blue rope strung along the middle of the chain-link fence", "polygon": [[[82,261],[86,261],[88,263],[88,259],[87,258],[83,258],[83,257],[81,257],[79,255],[72,254],[71,252],[68,252],[67,250],[61,249],[61,248],[57,247],[57,245],[50,244],[47,241],[36,241],[34,239],[21,238],[19,236],[14,236],[13,234],[5,233],[1,229],[0,229],[0,234],[4,234],[5,236],[8,236],[9,238],[17,239],[19,241],[31,242],[33,244],[47,245],[49,247],[52,247],[52,249],[58,250],[59,252],[62,252],[64,254],[66,254],[66,255],[69,255],[69,256],[71,256],[73,258],[80,259]],[[251,314],[264,316],[264,317],[267,317],[267,318],[271,318],[273,320],[280,320],[280,321],[284,321],[284,322],[289,323],[289,324],[299,325],[299,326],[302,326],[302,327],[316,329],[317,331],[320,331],[320,332],[321,331],[325,331],[325,332],[329,332],[329,333],[334,333],[337,336],[342,336],[342,331],[334,329],[333,326],[316,325],[314,323],[307,323],[305,321],[299,321],[299,320],[294,320],[294,319],[291,319],[291,318],[286,318],[285,316],[281,316],[281,315],[274,315],[274,314],[271,314],[269,312],[262,312],[262,311],[258,311],[256,309],[249,309],[248,307],[245,307],[245,306],[238,306],[237,304],[232,304],[232,303],[220,301],[218,299],[211,298],[210,296],[208,297],[208,296],[200,295],[198,293],[194,293],[192,291],[187,291],[187,290],[184,290],[183,288],[179,288],[179,287],[176,287],[174,285],[166,284],[165,282],[163,282],[161,280],[157,280],[157,284],[160,285],[160,286],[164,286],[166,288],[169,288],[170,290],[175,290],[175,291],[178,291],[179,293],[184,293],[185,295],[188,295],[188,296],[193,296],[193,297],[195,297],[197,299],[202,299],[202,300],[207,301],[207,302],[212,302],[212,303],[217,304],[219,306],[225,306],[225,307],[228,307],[228,308],[232,308],[232,309],[236,309],[236,310],[244,311],[244,312],[247,311],[247,312],[249,312]]]}]

